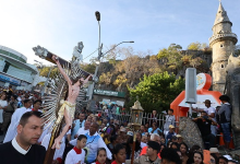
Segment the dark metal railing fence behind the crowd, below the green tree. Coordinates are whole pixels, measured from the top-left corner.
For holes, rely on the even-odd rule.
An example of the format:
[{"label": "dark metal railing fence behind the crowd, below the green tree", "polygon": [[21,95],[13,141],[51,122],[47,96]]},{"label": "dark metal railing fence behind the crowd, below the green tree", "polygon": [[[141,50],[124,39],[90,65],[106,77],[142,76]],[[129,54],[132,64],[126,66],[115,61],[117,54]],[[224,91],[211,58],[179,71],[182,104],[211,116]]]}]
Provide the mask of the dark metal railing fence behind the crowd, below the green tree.
[{"label": "dark metal railing fence behind the crowd, below the green tree", "polygon": [[[124,121],[127,122],[131,122],[131,112],[122,112],[120,115],[118,114],[113,114],[111,112],[104,112],[104,110],[96,110],[97,113],[101,113],[101,116],[104,117],[113,117],[115,119],[117,119],[119,121],[119,125],[123,124]],[[153,121],[156,121],[158,125],[158,128],[164,130],[164,124],[166,120],[166,114],[157,114],[155,118],[152,117],[152,113],[144,113],[143,114],[143,120],[142,120],[142,125],[146,125],[147,122],[149,124],[149,126],[152,126]],[[178,117],[176,118],[176,120],[179,120]],[[176,130],[178,131],[178,126],[179,122],[176,121]]]}]

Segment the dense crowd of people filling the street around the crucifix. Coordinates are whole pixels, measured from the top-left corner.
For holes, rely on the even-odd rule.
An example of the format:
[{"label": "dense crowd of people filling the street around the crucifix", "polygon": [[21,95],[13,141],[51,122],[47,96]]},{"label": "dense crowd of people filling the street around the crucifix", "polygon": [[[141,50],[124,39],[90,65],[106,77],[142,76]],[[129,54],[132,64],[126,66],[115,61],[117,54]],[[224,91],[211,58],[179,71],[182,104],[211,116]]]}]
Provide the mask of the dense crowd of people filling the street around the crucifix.
[{"label": "dense crowd of people filling the street around the crucifix", "polygon": [[[205,101],[205,109],[195,108],[201,116],[193,121],[199,126],[203,141],[207,144],[206,149],[211,152],[207,163],[238,164],[230,155],[221,155],[216,148],[215,136],[220,125],[226,148],[229,149],[228,125],[231,107],[227,96],[223,95],[219,98],[223,105],[217,110],[211,107],[208,99]],[[0,144],[0,163],[44,163],[51,131],[43,127],[41,104],[37,94],[14,92],[11,86],[1,90],[0,132],[7,133],[3,144]],[[154,110],[147,122],[135,132],[130,122],[118,119],[121,107],[100,106],[99,109],[99,113],[93,114],[83,108],[75,114],[75,119],[62,139],[60,149],[56,149],[52,164],[130,164],[131,160],[134,164],[206,163],[204,148],[200,145],[189,148],[184,142],[185,139],[176,130],[172,109],[168,109],[163,129],[159,128],[157,112]],[[117,115],[113,115],[112,109]],[[36,151],[38,153],[34,153]],[[11,153],[15,157],[11,157]]]}]

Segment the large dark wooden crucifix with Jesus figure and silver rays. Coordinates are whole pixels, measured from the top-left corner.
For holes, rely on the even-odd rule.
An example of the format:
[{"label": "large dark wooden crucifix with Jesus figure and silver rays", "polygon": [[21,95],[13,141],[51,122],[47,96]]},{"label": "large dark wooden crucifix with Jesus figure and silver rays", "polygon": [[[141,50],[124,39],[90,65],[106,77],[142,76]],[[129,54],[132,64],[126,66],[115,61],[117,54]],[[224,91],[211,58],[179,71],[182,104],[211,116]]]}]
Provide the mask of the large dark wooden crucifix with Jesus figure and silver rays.
[{"label": "large dark wooden crucifix with Jesus figure and silver rays", "polygon": [[[35,55],[56,63],[60,72],[53,79],[55,85],[51,86],[53,93],[44,97],[44,109],[47,110],[43,114],[45,125],[53,125],[44,164],[51,164],[55,149],[60,149],[62,138],[71,129],[75,107],[77,105],[81,106],[80,101],[84,97],[84,93],[81,93],[81,87],[91,80],[92,75],[79,68],[79,60],[83,49],[82,42],[74,47],[71,61],[67,61],[40,46],[33,49]],[[63,94],[65,95],[63,96]],[[64,99],[62,99],[63,97]]]}]

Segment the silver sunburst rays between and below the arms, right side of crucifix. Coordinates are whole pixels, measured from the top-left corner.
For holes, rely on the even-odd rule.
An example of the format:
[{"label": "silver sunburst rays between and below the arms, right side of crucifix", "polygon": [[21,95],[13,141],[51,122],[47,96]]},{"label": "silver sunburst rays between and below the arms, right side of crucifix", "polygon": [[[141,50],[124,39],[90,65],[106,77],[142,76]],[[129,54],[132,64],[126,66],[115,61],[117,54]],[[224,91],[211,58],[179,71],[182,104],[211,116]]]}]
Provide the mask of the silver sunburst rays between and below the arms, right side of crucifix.
[{"label": "silver sunburst rays between and below the arms, right side of crucifix", "polygon": [[[80,68],[80,65],[79,65],[77,60],[71,62],[71,77],[72,77],[73,79],[76,79],[76,78],[86,78],[86,77],[88,77],[88,75],[89,75],[88,72],[86,72],[86,71],[84,71],[84,70],[82,70],[82,69]],[[83,103],[83,101],[84,101],[85,97],[86,97],[85,87],[86,87],[86,86],[83,86],[83,87],[80,90],[80,94],[79,94],[79,96],[77,96],[77,98],[76,98],[76,109],[75,109],[75,112],[76,112],[77,114],[80,113],[81,108],[83,107],[82,103]]]}]

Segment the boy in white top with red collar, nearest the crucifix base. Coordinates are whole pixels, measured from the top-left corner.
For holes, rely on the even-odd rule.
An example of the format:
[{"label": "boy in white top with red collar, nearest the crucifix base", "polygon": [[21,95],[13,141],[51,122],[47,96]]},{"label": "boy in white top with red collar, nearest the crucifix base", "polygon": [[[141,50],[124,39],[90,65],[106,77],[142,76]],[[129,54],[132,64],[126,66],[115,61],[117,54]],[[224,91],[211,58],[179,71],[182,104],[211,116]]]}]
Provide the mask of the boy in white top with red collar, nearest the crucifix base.
[{"label": "boy in white top with red collar, nearest the crucifix base", "polygon": [[85,151],[83,148],[86,145],[86,140],[85,134],[79,136],[76,147],[74,147],[65,157],[65,164],[84,164]]}]

